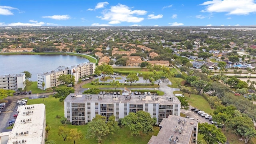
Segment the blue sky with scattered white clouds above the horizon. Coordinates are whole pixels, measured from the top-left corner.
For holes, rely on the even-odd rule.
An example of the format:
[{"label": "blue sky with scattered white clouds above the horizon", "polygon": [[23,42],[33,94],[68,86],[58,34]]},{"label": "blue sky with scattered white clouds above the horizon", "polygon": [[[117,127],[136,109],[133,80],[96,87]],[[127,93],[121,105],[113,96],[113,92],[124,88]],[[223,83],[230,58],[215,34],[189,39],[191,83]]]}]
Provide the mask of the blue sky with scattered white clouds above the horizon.
[{"label": "blue sky with scattered white clouds above the horizon", "polygon": [[256,0],[1,0],[0,26],[256,26]]}]

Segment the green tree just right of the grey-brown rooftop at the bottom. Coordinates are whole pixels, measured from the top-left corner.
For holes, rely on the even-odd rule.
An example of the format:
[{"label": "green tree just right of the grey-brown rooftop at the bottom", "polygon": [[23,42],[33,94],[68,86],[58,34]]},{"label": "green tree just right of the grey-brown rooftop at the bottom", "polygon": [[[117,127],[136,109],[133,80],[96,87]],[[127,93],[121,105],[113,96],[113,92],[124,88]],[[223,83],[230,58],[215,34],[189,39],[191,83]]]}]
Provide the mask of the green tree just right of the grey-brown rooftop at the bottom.
[{"label": "green tree just right of the grey-brown rooftop at the bottom", "polygon": [[206,144],[225,144],[227,138],[221,132],[220,128],[212,124],[205,123],[198,123],[198,133],[202,134],[204,137],[203,139],[206,141]]}]

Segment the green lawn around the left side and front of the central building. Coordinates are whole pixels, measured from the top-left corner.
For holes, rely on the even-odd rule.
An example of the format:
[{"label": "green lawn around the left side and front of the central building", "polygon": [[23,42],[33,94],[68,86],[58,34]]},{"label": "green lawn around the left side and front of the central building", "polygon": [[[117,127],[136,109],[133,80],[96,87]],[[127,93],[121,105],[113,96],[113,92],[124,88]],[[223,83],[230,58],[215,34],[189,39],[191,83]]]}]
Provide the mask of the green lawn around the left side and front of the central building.
[{"label": "green lawn around the left side and front of the central building", "polygon": [[[49,98],[45,98],[44,101],[42,99],[34,99],[28,100],[28,104],[39,104],[44,103],[46,106],[46,123],[51,126],[51,129],[48,134],[48,140],[55,140],[56,144],[71,144],[68,140],[63,141],[62,136],[58,136],[58,126],[62,126],[60,123],[60,118],[56,118],[56,115],[64,117],[64,106],[63,102],[59,102],[58,98],[53,98],[52,96]],[[86,135],[86,131],[88,125],[83,126],[74,126],[74,125],[66,125],[67,128],[77,128],[81,130],[83,135]],[[146,135],[142,134],[142,136],[131,136],[130,131],[126,127],[120,128],[116,134],[108,134],[105,138],[103,138],[103,144],[147,144],[150,140],[151,136],[156,136],[159,132],[158,127],[154,127],[154,132]],[[86,139],[85,137],[82,140],[76,140],[76,144],[97,144],[96,138]]]}]

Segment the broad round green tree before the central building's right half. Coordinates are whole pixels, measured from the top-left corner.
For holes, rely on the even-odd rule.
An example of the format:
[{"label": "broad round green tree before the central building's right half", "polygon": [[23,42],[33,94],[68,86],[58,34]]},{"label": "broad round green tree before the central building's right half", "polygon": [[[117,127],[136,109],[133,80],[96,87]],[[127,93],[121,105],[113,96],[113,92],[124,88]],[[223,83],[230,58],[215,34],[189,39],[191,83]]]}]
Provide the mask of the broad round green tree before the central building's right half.
[{"label": "broad round green tree before the central building's right half", "polygon": [[139,136],[140,132],[148,134],[153,132],[154,119],[151,118],[150,113],[138,111],[136,113],[130,112],[128,116],[122,119],[122,125],[127,126],[132,135]]}]

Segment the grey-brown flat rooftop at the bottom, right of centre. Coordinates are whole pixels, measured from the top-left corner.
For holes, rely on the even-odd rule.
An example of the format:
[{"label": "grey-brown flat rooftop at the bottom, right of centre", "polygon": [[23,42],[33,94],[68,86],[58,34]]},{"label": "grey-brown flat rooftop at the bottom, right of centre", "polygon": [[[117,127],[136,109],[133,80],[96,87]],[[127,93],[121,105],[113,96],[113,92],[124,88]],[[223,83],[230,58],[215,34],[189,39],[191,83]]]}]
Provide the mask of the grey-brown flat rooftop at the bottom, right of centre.
[{"label": "grey-brown flat rooftop at the bottom, right of centre", "polygon": [[[182,121],[185,120],[185,124]],[[179,122],[180,121],[180,122]],[[162,127],[157,136],[152,136],[148,144],[174,144],[174,140],[178,137],[177,144],[190,144],[190,138],[194,127],[197,127],[196,120],[190,120],[180,116],[169,115],[168,118],[164,118],[159,124]],[[176,130],[177,126],[177,130]],[[180,129],[182,132],[180,133]],[[176,131],[175,131],[176,130]],[[170,137],[173,136],[170,142]]]}]

